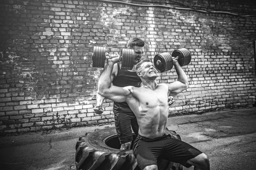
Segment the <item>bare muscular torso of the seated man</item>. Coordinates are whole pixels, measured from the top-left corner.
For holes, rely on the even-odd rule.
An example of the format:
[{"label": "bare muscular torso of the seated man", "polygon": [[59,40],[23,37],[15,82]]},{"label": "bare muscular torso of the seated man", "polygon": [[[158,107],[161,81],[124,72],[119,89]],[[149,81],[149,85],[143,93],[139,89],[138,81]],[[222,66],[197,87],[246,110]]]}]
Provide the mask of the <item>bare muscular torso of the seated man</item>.
[{"label": "bare muscular torso of the seated man", "polygon": [[163,136],[168,118],[168,86],[159,84],[154,90],[128,87],[127,103],[137,117],[139,134],[154,139]]}]

